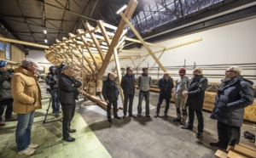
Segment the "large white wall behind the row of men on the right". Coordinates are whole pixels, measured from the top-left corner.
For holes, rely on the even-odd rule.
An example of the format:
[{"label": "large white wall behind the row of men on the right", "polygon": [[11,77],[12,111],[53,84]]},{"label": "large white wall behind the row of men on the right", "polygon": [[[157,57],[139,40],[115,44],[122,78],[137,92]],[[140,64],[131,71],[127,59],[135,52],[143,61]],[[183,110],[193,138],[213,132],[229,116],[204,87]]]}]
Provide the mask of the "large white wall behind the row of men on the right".
[{"label": "large white wall behind the row of men on the right", "polygon": [[[256,63],[256,19],[244,20],[230,25],[219,26],[207,31],[200,31],[183,37],[169,39],[158,44],[172,47],[183,42],[189,42],[197,38],[202,38],[201,42],[195,42],[180,48],[174,48],[166,51],[160,57],[160,62],[164,66],[184,65],[221,65],[221,64],[245,64]],[[152,50],[160,48],[150,47]],[[138,48],[136,48],[138,49]],[[144,51],[145,48],[139,50]],[[126,53],[128,54],[128,53]],[[134,53],[132,53],[133,55]],[[124,55],[124,54],[119,54]],[[130,54],[131,55],[131,54]],[[159,57],[160,54],[156,54]],[[158,65],[155,64],[151,56],[134,59],[135,65],[139,67],[148,66],[149,68]],[[108,65],[108,71],[114,63]],[[130,65],[136,67],[131,59],[120,61],[121,67]],[[155,72],[155,71],[154,71]],[[171,74],[177,74],[177,69],[170,71]],[[192,73],[192,71],[188,71]],[[204,71],[204,74],[224,74],[221,71]],[[244,75],[256,75],[256,71],[244,71]],[[154,76],[157,77],[157,76]],[[177,78],[174,76],[174,78]],[[255,78],[254,78],[255,79]],[[219,82],[220,78],[209,78],[210,82]],[[254,80],[256,82],[256,80]]]}]

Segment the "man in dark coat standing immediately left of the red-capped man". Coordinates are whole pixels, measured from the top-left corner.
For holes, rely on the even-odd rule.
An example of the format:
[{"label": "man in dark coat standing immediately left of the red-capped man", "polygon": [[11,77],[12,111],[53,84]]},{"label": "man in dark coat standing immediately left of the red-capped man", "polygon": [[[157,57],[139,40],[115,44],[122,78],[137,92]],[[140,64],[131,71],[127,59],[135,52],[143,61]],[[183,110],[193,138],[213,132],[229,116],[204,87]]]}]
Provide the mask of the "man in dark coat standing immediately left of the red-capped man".
[{"label": "man in dark coat standing immediately left of the red-capped man", "polygon": [[163,103],[163,100],[166,99],[166,109],[165,109],[165,117],[168,118],[167,112],[169,110],[170,99],[172,98],[172,88],[173,88],[173,80],[170,77],[168,72],[160,78],[158,87],[160,88],[160,95],[158,99],[158,104],[156,108],[156,112],[154,117],[158,117],[160,113],[160,106]]}]

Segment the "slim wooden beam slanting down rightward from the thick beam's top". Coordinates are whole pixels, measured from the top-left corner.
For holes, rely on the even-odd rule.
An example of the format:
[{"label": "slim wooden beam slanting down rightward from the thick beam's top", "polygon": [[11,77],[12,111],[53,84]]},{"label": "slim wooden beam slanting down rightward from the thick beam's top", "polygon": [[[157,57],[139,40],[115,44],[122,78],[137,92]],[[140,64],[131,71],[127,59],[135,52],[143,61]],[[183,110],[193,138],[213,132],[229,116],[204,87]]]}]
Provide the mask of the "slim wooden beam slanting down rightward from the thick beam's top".
[{"label": "slim wooden beam slanting down rightward from the thick beam's top", "polygon": [[153,59],[156,61],[156,63],[160,66],[162,71],[166,72],[166,68],[160,63],[160,60],[156,58],[153,51],[148,47],[147,43],[143,40],[143,37],[140,36],[140,34],[137,32],[137,30],[134,28],[134,26],[131,24],[129,19],[123,14],[123,12],[120,12],[119,15],[122,17],[122,20],[125,20],[125,23],[129,25],[131,28],[131,31],[136,35],[136,37],[143,43],[143,46],[148,50],[148,53],[153,57]]}]

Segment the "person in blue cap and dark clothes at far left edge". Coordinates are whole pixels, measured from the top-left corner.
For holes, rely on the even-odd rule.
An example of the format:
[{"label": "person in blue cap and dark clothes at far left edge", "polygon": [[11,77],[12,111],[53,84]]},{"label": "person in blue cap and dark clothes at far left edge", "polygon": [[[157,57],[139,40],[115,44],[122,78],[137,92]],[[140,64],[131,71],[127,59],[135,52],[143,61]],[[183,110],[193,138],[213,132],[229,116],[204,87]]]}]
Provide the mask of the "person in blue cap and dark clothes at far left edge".
[{"label": "person in blue cap and dark clothes at far left edge", "polygon": [[8,70],[7,62],[0,60],[0,126],[6,123],[3,121],[3,111],[5,110],[5,121],[16,121],[17,119],[12,116],[13,113],[13,98],[11,93],[11,78],[12,74]]}]

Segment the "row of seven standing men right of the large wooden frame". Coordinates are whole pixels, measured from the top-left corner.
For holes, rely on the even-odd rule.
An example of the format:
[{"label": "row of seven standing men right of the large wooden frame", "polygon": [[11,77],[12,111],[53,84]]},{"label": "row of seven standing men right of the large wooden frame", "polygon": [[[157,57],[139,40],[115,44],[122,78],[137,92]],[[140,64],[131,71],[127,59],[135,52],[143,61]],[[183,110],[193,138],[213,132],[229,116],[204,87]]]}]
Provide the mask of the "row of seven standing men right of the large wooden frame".
[{"label": "row of seven standing men right of the large wooden frame", "polygon": [[[186,70],[181,68],[174,86],[173,79],[169,73],[165,73],[159,80],[160,95],[154,117],[160,115],[160,105],[166,99],[166,108],[164,117],[168,118],[167,112],[172,98],[172,88],[174,88],[175,106],[177,118],[173,121],[180,122],[182,129],[193,130],[195,115],[197,117],[198,126],[196,138],[203,137],[204,119],[203,119],[203,103],[205,92],[208,86],[207,77],[202,75],[202,69],[196,68],[193,71],[193,77],[189,80]],[[218,121],[218,142],[210,143],[211,146],[226,149],[228,145],[234,146],[238,144],[241,137],[241,125],[243,121],[244,108],[253,104],[253,82],[241,76],[241,68],[239,66],[230,66],[224,72],[225,78],[218,87],[214,108],[211,118]],[[127,116],[127,106],[129,102],[128,114],[132,114],[133,99],[135,95],[135,77],[131,67],[126,68],[126,74],[122,77],[121,88],[124,93],[124,116]],[[137,87],[139,88],[139,99],[137,105],[137,117],[142,116],[143,98],[146,101],[146,117],[150,118],[149,110],[149,90],[152,85],[151,76],[148,75],[148,68],[143,68],[143,74],[138,77]],[[107,115],[108,122],[112,123],[111,107],[113,104],[113,116],[120,120],[117,114],[117,100],[119,98],[119,88],[112,72],[108,73],[108,79],[103,82],[102,95],[108,104]],[[189,109],[189,115],[187,113]],[[187,123],[187,118],[189,121]]]}]

